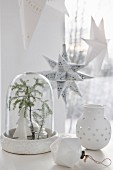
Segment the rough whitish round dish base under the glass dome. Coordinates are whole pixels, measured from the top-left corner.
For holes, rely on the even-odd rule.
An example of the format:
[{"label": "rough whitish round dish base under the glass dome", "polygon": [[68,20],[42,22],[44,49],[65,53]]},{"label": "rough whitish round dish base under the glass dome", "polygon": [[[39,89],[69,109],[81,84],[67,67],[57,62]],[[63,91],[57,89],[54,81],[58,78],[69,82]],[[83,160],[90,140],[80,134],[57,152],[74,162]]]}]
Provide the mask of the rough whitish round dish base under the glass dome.
[{"label": "rough whitish round dish base under the glass dome", "polygon": [[7,137],[2,134],[2,149],[15,154],[40,154],[50,151],[50,145],[57,139],[58,133],[46,129],[50,137],[40,140],[18,140]]}]

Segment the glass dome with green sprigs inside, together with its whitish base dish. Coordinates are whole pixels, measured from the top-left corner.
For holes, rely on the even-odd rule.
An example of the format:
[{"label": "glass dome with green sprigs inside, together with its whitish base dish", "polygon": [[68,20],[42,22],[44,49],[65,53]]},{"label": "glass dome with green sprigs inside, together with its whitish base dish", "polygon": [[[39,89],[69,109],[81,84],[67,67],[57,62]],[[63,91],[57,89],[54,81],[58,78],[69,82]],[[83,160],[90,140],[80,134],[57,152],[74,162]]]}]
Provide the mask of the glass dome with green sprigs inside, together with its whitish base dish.
[{"label": "glass dome with green sprigs inside, together with its whitish base dish", "polygon": [[17,154],[50,151],[54,131],[53,92],[39,73],[23,73],[11,82],[7,93],[2,148]]}]

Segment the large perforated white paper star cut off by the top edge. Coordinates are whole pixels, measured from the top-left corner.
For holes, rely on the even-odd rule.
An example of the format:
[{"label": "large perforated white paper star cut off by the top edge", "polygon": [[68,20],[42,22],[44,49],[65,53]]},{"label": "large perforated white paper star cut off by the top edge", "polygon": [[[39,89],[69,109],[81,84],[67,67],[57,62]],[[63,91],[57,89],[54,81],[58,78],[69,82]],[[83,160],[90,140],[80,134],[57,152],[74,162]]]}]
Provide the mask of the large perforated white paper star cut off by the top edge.
[{"label": "large perforated white paper star cut off by the top edge", "polygon": [[24,47],[27,48],[38,24],[44,6],[50,7],[68,15],[63,0],[18,0]]}]

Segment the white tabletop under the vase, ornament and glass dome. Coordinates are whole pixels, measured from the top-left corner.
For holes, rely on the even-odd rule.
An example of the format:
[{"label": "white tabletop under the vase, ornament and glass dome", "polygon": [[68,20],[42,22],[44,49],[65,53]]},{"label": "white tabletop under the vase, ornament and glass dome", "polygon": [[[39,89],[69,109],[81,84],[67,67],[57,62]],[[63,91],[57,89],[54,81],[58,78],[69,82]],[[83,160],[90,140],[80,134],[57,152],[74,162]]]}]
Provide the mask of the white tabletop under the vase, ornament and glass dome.
[{"label": "white tabletop under the vase, ornament and glass dome", "polygon": [[[98,161],[109,157],[112,160],[110,167],[97,165],[91,160],[84,163],[83,160],[76,165],[74,170],[113,170],[113,135],[110,143],[100,151],[86,150],[86,154],[90,154]],[[16,155],[10,154],[2,150],[0,147],[0,170],[68,170],[63,166],[57,166],[52,158],[51,153],[40,155]]]}]

